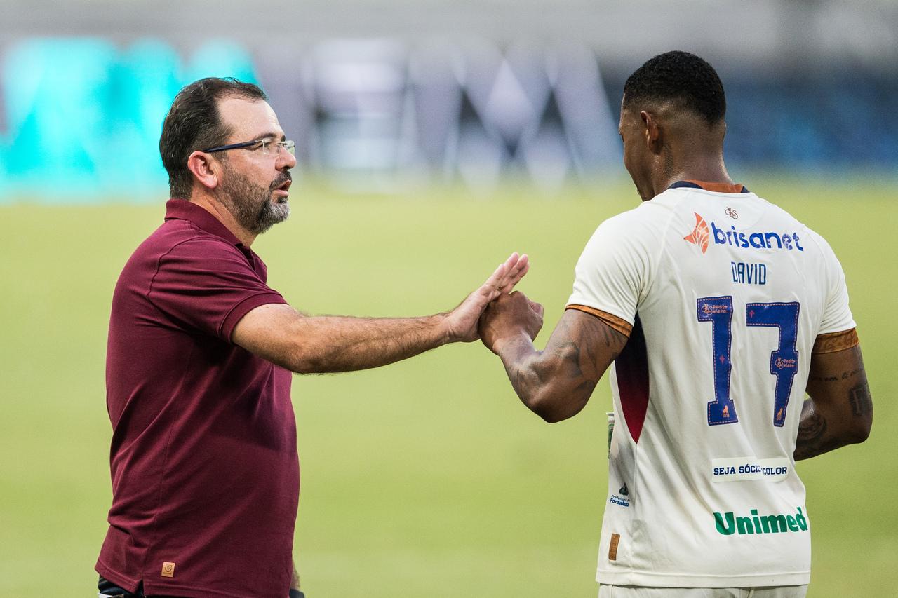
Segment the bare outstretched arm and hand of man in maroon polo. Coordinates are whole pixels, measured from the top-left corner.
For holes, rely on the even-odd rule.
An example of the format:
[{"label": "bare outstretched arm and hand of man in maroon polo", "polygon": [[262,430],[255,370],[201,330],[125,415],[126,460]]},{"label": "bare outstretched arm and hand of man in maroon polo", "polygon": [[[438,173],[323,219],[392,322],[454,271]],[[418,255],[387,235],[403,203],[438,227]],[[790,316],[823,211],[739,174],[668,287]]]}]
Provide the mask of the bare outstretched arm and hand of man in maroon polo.
[{"label": "bare outstretched arm and hand of man in maroon polo", "polygon": [[446,343],[476,340],[484,308],[510,292],[528,268],[527,256],[513,253],[452,312],[422,318],[308,316],[289,305],[270,303],[243,316],[231,338],[251,353],[299,374],[392,364]]}]

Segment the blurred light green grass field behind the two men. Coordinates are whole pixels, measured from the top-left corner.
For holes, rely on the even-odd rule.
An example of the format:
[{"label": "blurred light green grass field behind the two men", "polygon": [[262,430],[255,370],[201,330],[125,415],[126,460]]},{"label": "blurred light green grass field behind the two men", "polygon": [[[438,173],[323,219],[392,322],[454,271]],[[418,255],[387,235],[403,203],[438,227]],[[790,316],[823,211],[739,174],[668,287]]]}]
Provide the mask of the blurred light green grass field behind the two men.
[{"label": "blurred light green grass field behind the two men", "polygon": [[[841,257],[876,404],[867,444],[798,466],[814,527],[808,595],[894,595],[898,241],[885,224],[898,194],[850,182],[749,186]],[[513,190],[489,200],[306,193],[295,186],[291,219],[254,245],[270,284],[299,309],[443,311],[510,251],[526,251],[533,268],[520,288],[546,306],[538,342],[594,227],[637,202],[629,185],[555,200]],[[110,506],[110,295],[162,215],[162,201],[0,207],[0,596],[95,595]],[[477,343],[380,370],[297,376],[293,400],[303,470],[296,555],[310,598],[596,594],[607,382],[577,418],[549,426]]]}]

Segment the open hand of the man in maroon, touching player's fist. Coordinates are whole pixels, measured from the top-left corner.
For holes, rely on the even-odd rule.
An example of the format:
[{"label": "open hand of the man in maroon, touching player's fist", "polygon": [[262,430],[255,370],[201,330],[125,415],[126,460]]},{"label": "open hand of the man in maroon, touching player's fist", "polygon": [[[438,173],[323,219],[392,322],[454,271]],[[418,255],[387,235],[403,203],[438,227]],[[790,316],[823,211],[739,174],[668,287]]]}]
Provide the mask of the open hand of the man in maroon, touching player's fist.
[{"label": "open hand of the man in maroon, touching player's fist", "polygon": [[478,339],[477,322],[489,302],[507,295],[530,268],[527,255],[512,253],[479,289],[468,295],[458,307],[446,314],[446,336],[450,342],[470,343]]}]

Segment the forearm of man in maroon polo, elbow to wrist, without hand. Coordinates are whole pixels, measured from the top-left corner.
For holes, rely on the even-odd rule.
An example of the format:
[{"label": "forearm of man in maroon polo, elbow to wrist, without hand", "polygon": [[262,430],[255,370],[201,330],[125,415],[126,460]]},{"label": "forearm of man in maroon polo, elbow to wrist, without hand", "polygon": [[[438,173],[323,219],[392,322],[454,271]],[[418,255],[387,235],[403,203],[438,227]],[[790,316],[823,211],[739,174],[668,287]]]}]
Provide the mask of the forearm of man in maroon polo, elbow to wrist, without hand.
[{"label": "forearm of man in maroon polo, elbow to wrist, without hand", "polygon": [[444,321],[444,314],[395,319],[304,317],[295,321],[295,343],[284,365],[298,374],[324,374],[392,364],[451,342]]}]

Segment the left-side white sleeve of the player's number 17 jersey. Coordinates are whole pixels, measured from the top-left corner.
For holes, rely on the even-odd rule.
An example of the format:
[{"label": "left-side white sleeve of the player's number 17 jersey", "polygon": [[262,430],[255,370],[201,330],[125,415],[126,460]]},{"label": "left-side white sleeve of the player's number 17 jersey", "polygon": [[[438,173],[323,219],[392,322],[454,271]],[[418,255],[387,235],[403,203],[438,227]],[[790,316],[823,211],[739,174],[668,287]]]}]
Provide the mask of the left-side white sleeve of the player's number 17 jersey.
[{"label": "left-side white sleeve of the player's number 17 jersey", "polygon": [[650,259],[644,235],[638,226],[628,225],[628,215],[606,220],[586,243],[574,270],[568,307],[591,308],[632,326]]}]

